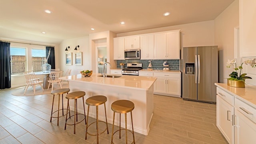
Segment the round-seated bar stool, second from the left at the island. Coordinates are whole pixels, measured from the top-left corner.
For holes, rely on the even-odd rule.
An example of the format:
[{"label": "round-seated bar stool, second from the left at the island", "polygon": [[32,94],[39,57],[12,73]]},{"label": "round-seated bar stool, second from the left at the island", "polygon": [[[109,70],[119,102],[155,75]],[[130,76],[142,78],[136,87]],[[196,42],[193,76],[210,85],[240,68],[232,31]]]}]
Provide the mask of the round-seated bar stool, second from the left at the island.
[{"label": "round-seated bar stool, second from the left at the island", "polygon": [[[83,98],[83,106],[84,106],[84,96],[85,96],[85,92],[82,91],[77,91],[77,92],[71,92],[69,94],[66,95],[66,99],[68,99],[68,105],[67,105],[67,114],[66,114],[66,122],[65,122],[65,130],[66,130],[66,126],[67,125],[74,125],[74,134],[76,134],[76,124],[79,124],[80,122],[82,122],[83,120],[85,120],[85,124],[86,124],[86,115],[85,115],[85,108],[84,108],[84,119],[82,119],[80,122],[78,121],[78,113],[77,113],[77,99],[78,98]],[[70,106],[69,106],[69,100],[74,100],[74,124],[68,124],[67,121],[68,119],[70,119],[72,116],[70,116]],[[69,118],[68,118],[68,111],[69,111]]]}]

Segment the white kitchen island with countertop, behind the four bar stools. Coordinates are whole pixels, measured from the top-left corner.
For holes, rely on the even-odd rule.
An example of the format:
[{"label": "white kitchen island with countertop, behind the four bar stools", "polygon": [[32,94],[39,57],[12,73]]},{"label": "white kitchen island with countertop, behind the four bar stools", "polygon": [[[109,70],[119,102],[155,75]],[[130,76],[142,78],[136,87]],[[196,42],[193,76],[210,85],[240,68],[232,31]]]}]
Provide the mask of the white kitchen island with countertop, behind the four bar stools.
[{"label": "white kitchen island with countertop, behind the four bar stools", "polygon": [[[153,84],[156,81],[156,77],[115,75],[120,77],[103,78],[100,75],[92,74],[90,77],[84,77],[81,74],[77,74],[61,77],[60,79],[69,81],[70,92],[86,92],[85,100],[96,95],[106,96],[108,98],[106,112],[108,123],[110,124],[113,124],[111,104],[116,100],[132,101],[135,105],[132,111],[134,131],[147,135],[153,115]],[[74,102],[70,102],[70,108],[74,110]],[[82,100],[78,100],[78,112],[83,113]],[[99,120],[105,121],[103,106],[99,106],[98,115]],[[90,108],[89,116],[96,118],[96,108]],[[115,125],[119,126],[119,114],[116,114],[115,119]],[[121,115],[121,121],[121,126],[125,127],[123,115]],[[132,130],[129,113],[127,114],[127,128]]]}]

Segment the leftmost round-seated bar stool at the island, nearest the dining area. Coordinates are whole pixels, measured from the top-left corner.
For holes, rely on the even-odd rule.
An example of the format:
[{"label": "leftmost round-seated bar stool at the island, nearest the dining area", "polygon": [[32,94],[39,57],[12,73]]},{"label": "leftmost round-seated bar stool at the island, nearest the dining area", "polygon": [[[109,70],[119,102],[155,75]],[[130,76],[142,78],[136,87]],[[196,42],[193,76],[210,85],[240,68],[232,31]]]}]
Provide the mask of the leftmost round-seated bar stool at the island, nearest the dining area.
[{"label": "leftmost round-seated bar stool at the island, nearest the dining area", "polygon": [[[62,94],[62,116],[64,116],[64,109],[63,109],[63,94],[67,93],[70,91],[69,88],[61,88],[61,89],[58,89],[58,90],[53,90],[51,92],[51,94],[53,94],[53,99],[52,99],[52,111],[53,111],[53,104],[54,104],[54,96],[55,95],[59,95],[59,102],[58,102],[58,110],[56,110],[55,112],[58,111],[58,116],[57,117],[54,117],[52,116],[55,112],[51,112],[51,119],[50,119],[50,122],[52,122],[52,118],[58,118],[58,122],[57,122],[57,126],[59,125],[59,113],[60,113],[60,94]],[[68,110],[68,109],[65,109],[65,110]]]}]

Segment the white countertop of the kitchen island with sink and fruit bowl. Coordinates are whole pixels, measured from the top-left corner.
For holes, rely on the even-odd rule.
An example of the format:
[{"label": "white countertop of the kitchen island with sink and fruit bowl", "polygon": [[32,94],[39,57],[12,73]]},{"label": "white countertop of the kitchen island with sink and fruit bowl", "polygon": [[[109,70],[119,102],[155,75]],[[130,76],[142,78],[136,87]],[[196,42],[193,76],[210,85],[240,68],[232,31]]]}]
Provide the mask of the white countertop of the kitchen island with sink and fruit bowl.
[{"label": "white countertop of the kitchen island with sink and fruit bowl", "polygon": [[[156,81],[156,77],[147,76],[129,76],[129,75],[116,75],[119,78],[103,78],[93,73],[90,77],[84,77],[81,74],[60,77],[61,80],[69,80],[75,82],[94,83],[105,86],[116,86],[122,88],[131,88],[138,90],[148,90],[150,86]],[[108,74],[111,75],[111,74]]]}]

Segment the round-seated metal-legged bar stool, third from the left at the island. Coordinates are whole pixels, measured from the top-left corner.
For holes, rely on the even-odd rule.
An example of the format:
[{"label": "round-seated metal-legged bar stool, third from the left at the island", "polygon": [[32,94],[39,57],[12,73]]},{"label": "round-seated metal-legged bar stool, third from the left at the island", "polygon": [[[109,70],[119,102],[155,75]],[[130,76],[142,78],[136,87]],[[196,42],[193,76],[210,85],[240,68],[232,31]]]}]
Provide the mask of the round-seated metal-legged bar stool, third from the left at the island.
[{"label": "round-seated metal-legged bar stool, third from the left at the island", "polygon": [[[107,122],[107,115],[106,115],[106,101],[107,101],[107,97],[106,96],[92,96],[90,98],[87,98],[85,103],[88,105],[88,112],[87,112],[87,125],[86,125],[86,133],[85,133],[85,139],[87,139],[87,134],[91,135],[91,136],[97,136],[97,144],[99,143],[99,135],[102,134],[103,132],[105,132],[107,130],[108,132],[108,122]],[[98,122],[103,122],[102,120],[98,120],[98,106],[104,104],[104,108],[105,108],[105,117],[106,117],[106,129],[101,132],[99,134],[99,128],[98,128]],[[92,124],[94,124],[95,122],[92,122],[90,125],[88,125],[88,119],[89,119],[89,108],[90,106],[96,106],[96,129],[97,129],[97,134],[90,134],[88,132],[88,127]],[[105,122],[104,122],[105,123]]]}]

